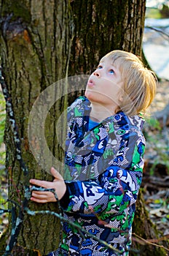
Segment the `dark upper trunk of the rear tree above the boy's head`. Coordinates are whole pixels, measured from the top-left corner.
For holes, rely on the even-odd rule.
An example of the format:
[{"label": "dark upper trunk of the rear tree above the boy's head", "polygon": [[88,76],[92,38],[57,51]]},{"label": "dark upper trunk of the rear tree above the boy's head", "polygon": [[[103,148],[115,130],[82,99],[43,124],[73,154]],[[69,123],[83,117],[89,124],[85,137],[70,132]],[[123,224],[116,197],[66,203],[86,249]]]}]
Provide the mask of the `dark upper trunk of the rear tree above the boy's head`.
[{"label": "dark upper trunk of the rear tree above the boy's head", "polygon": [[[111,50],[141,56],[146,0],[73,0],[71,8],[74,39],[68,75],[90,74]],[[69,104],[80,94],[76,88]]]}]

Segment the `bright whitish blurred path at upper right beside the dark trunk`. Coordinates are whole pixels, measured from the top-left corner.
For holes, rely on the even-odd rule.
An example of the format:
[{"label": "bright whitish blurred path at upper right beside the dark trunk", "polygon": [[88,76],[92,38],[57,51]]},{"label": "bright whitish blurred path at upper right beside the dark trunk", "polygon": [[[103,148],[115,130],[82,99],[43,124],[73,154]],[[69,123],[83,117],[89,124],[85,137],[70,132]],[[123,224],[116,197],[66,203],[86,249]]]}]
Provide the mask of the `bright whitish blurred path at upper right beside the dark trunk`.
[{"label": "bright whitish blurred path at upper right beside the dark trunk", "polygon": [[143,49],[150,67],[157,76],[169,80],[169,18],[146,18]]}]

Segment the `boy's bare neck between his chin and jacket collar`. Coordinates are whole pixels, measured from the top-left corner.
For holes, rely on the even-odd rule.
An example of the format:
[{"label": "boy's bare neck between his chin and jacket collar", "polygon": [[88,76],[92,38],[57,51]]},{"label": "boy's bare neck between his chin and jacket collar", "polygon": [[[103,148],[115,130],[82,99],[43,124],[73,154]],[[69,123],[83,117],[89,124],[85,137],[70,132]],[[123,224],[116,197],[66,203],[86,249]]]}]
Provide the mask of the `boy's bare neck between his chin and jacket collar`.
[{"label": "boy's bare neck between his chin and jacket collar", "polygon": [[101,122],[109,116],[113,116],[115,113],[115,109],[106,108],[105,106],[95,102],[92,102],[90,106],[92,108],[90,112],[90,119],[96,122]]}]

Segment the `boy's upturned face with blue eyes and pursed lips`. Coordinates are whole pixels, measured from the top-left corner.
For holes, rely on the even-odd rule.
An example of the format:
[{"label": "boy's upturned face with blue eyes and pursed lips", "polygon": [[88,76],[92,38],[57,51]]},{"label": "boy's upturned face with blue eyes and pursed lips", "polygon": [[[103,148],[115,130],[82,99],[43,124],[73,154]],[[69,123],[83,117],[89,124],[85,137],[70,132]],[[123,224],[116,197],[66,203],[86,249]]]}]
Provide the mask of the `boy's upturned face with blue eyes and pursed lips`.
[{"label": "boy's upturned face with blue eyes and pursed lips", "polygon": [[115,109],[122,101],[122,76],[118,67],[106,58],[100,62],[98,68],[90,75],[87,82],[85,96],[90,102],[98,102],[106,108]]}]

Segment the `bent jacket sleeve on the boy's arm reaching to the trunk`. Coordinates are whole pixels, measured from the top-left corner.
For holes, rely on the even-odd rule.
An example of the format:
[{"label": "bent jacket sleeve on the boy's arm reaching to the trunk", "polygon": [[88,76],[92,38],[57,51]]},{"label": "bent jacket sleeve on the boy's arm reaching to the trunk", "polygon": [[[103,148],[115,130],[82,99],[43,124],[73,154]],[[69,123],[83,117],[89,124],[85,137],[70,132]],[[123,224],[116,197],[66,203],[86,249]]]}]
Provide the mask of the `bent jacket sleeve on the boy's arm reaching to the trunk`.
[{"label": "bent jacket sleeve on the boy's arm reaching to the trunk", "polygon": [[119,150],[98,178],[66,181],[63,210],[81,214],[117,214],[135,203],[141,186],[145,140],[140,131],[121,138]]}]

